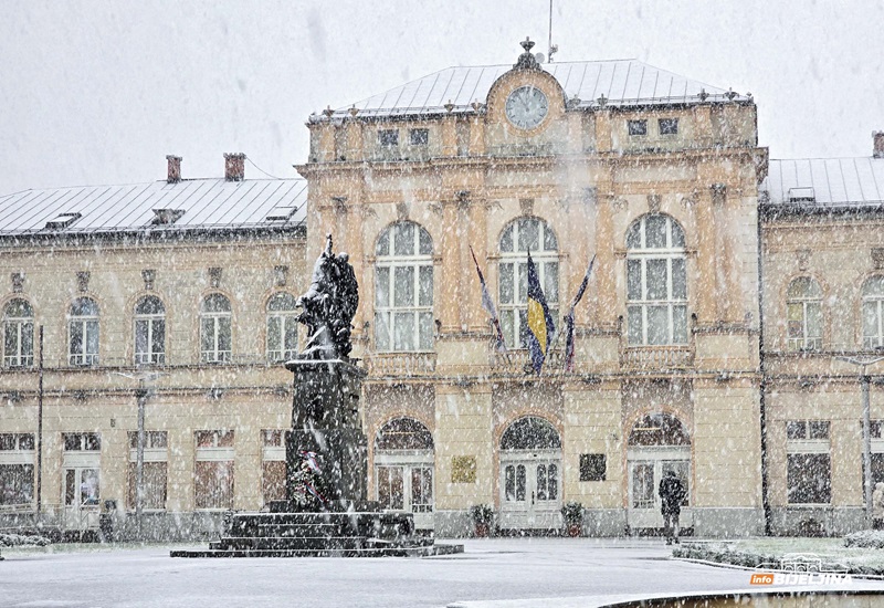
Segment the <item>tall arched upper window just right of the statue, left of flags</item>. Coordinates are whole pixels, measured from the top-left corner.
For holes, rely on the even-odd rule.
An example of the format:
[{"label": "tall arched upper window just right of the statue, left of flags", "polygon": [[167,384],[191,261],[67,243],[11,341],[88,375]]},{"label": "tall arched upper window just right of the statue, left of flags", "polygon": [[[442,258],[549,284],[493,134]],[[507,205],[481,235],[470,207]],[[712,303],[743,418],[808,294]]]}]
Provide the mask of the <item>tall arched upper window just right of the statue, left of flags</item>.
[{"label": "tall arched upper window just right of the statue, left of flags", "polygon": [[433,241],[412,222],[396,223],[375,249],[375,348],[433,349]]}]

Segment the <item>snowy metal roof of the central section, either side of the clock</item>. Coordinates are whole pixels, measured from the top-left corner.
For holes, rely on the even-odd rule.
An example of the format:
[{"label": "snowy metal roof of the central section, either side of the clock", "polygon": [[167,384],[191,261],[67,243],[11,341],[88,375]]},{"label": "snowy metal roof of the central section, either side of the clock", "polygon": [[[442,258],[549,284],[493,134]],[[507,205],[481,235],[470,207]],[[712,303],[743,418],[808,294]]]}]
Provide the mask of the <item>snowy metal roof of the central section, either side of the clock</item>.
[{"label": "snowy metal roof of the central section, either side of the clock", "polygon": [[[569,99],[580,99],[576,107],[599,107],[602,95],[604,103],[613,106],[749,99],[634,59],[546,63],[540,67],[559,82]],[[446,112],[449,103],[454,105],[452,112],[475,112],[471,104],[485,103],[492,84],[512,69],[512,65],[448,67],[351,105],[360,117],[441,114]],[[332,117],[347,117],[350,107],[334,111]]]}]

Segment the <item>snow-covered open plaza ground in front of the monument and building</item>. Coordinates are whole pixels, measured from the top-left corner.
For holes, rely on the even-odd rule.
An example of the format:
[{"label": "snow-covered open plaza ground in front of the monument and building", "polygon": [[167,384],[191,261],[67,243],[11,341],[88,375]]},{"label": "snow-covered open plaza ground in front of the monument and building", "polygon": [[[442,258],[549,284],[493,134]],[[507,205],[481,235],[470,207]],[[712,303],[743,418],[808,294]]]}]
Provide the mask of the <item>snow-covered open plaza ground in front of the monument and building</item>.
[{"label": "snow-covered open plaza ground in front of the monument and building", "polygon": [[[564,608],[598,605],[601,596],[749,588],[749,572],[672,560],[661,541],[464,544],[464,554],[424,559],[173,559],[168,546],[3,549],[0,605]],[[854,587],[884,591],[884,581]]]}]

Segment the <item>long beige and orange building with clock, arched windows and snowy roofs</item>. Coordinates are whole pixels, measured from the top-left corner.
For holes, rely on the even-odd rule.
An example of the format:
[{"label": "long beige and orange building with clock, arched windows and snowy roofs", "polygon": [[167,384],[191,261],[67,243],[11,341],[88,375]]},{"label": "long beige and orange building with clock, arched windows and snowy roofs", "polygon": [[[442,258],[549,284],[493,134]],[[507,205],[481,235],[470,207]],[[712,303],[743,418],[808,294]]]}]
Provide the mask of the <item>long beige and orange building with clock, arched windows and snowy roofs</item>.
[{"label": "long beige and orange building with clock, arched windows and snowy roofs", "polygon": [[[421,527],[465,534],[491,504],[558,528],[579,501],[590,534],[656,528],[670,470],[696,534],[863,525],[860,384],[835,357],[884,344],[884,159],[768,160],[749,96],[528,44],[308,128],[306,181],[246,180],[239,155],[181,180],[171,157],[167,181],[0,198],[0,509],[36,509],[41,399],[45,520],[133,510],[139,402],[157,530],[277,496],[278,361],[330,232],[360,283],[369,488]],[[596,255],[572,369],[562,332],[528,365],[528,251],[557,325]],[[874,384],[872,408],[884,481]]]}]

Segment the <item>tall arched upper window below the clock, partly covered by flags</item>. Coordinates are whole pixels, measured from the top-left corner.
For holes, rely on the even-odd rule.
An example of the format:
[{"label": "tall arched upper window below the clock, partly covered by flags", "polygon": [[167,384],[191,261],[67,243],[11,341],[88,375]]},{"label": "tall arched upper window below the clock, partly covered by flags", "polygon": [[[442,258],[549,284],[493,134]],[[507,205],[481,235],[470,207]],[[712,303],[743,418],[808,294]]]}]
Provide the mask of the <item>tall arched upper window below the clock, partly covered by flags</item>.
[{"label": "tall arched upper window below the clock, partly covered by flags", "polygon": [[519,218],[501,235],[501,328],[507,346],[527,348],[528,251],[537,266],[549,314],[558,318],[559,258],[552,229],[536,218]]}]

